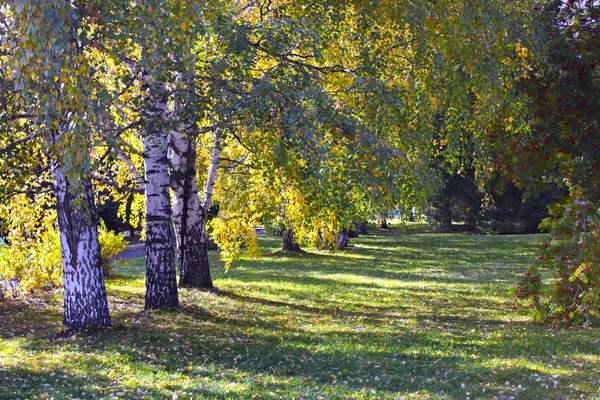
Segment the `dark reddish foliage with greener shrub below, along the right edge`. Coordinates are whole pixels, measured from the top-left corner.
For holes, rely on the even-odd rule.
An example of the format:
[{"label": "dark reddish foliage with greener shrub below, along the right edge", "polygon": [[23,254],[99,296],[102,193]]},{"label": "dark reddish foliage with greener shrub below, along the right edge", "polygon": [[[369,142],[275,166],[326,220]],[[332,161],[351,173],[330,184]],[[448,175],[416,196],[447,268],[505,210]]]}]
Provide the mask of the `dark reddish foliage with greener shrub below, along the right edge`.
[{"label": "dark reddish foliage with greener shrub below, along the right edge", "polygon": [[546,62],[520,83],[532,124],[506,142],[512,159],[506,165],[520,187],[560,185],[569,195],[550,207],[542,224],[550,236],[516,299],[529,301],[541,320],[588,325],[600,311],[600,9],[594,2],[554,1],[538,12]]}]

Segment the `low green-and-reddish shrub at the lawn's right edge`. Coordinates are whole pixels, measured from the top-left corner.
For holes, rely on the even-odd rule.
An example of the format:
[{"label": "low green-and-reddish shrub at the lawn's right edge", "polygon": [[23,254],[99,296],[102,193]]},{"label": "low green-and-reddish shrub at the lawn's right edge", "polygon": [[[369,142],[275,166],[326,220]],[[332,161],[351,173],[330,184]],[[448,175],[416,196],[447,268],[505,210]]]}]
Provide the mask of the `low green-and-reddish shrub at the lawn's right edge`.
[{"label": "low green-and-reddish shrub at the lawn's right edge", "polygon": [[[516,288],[542,321],[583,326],[600,316],[600,210],[589,198],[550,207],[542,227],[551,235],[539,246],[537,262]],[[552,274],[545,285],[542,271]]]}]

